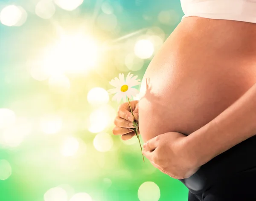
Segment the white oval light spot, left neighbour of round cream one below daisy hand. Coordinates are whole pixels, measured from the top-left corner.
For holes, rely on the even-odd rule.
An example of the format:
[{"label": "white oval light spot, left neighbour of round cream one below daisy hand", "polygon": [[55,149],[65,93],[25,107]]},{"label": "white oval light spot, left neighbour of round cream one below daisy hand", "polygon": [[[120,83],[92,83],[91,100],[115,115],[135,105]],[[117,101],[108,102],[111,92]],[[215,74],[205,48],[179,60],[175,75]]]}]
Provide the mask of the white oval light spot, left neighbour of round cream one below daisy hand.
[{"label": "white oval light spot, left neighbour of round cream one below daisy hand", "polygon": [[73,156],[79,149],[79,142],[76,138],[69,137],[64,141],[61,153],[64,156]]}]

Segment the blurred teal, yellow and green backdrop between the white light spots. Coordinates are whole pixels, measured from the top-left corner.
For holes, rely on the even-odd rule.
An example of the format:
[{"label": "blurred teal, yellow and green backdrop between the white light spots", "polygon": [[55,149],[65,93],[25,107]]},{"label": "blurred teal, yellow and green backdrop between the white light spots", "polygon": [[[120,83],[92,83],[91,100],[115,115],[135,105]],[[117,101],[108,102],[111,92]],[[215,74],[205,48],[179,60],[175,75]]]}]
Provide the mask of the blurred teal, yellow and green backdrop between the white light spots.
[{"label": "blurred teal, yellow and green backdrop between the white light spots", "polygon": [[[36,0],[0,0],[0,9],[8,5],[23,6],[28,14],[22,26],[10,27],[0,23],[0,108],[11,109],[16,116],[25,117],[32,125],[32,132],[19,146],[1,146],[0,159],[9,162],[12,175],[0,180],[0,201],[44,201],[44,193],[57,186],[64,189],[72,187],[73,190],[67,190],[69,198],[74,193],[87,192],[93,201],[137,201],[138,189],[145,181],[152,181],[160,188],[159,201],[187,200],[188,190],[180,181],[155,169],[148,160],[143,163],[138,143],[127,145],[120,136],[112,135],[114,144],[111,150],[98,152],[93,147],[96,133],[88,131],[86,123],[90,113],[96,109],[87,101],[90,89],[111,89],[111,79],[120,72],[125,76],[130,72],[125,65],[116,66],[113,62],[116,57],[121,58],[119,55],[126,54],[123,44],[130,39],[136,40],[152,27],[163,30],[165,40],[183,16],[180,2],[108,0],[117,18],[117,26],[113,30],[104,30],[97,23],[97,17],[102,13],[99,5],[103,2],[84,0],[73,11],[55,5],[55,14],[45,20],[33,12]],[[120,7],[122,11],[116,9]],[[172,13],[169,23],[160,22],[161,11]],[[88,19],[94,20],[90,24]],[[110,48],[105,50],[98,68],[85,75],[67,75],[71,83],[67,95],[49,90],[46,80],[35,80],[28,71],[28,61],[58,38],[57,27],[72,33],[84,28],[101,43],[114,41],[137,30],[145,31],[108,43]],[[151,58],[145,59],[143,67],[132,73],[142,79]],[[118,103],[110,98],[109,104],[117,111]],[[64,119],[65,126],[53,135],[45,135],[39,128],[40,118],[49,113],[61,115]],[[104,132],[111,134],[113,126],[111,123]],[[0,135],[3,132],[0,130]],[[75,157],[61,156],[59,146],[66,136],[78,138],[86,144],[86,151]]]}]

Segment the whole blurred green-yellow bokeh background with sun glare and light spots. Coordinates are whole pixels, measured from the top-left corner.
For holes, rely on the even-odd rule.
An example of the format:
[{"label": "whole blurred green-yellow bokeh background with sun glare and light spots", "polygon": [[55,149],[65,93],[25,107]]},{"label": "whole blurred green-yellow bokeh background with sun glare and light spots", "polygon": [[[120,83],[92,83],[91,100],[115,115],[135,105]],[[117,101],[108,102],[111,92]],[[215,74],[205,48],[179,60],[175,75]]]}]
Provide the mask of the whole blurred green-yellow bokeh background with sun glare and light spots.
[{"label": "whole blurred green-yellow bokeh background with sun glare and light spots", "polygon": [[106,92],[142,80],[182,16],[179,0],[0,0],[0,201],[187,200],[112,135]]}]

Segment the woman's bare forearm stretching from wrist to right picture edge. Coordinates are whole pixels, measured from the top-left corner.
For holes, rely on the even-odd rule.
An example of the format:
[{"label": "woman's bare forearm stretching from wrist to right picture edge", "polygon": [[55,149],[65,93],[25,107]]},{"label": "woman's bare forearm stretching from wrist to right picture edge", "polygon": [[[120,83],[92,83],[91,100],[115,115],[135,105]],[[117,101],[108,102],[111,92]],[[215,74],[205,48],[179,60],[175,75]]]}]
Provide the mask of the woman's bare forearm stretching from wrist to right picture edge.
[{"label": "woman's bare forearm stretching from wrist to right picture edge", "polygon": [[186,149],[201,166],[256,135],[256,84],[208,124],[186,137]]}]

